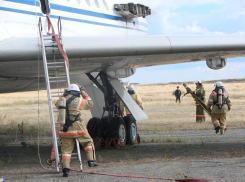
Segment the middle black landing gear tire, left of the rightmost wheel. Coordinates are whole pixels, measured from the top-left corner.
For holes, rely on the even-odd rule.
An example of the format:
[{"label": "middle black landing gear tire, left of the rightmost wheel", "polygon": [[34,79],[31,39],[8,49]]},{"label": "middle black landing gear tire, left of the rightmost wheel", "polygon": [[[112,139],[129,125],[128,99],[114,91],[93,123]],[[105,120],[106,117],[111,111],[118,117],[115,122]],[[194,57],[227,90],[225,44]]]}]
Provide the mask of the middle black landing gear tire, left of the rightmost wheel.
[{"label": "middle black landing gear tire, left of the rightmost wheel", "polygon": [[121,117],[114,117],[111,119],[108,126],[108,138],[119,138],[120,145],[126,145],[127,142],[127,128]]}]

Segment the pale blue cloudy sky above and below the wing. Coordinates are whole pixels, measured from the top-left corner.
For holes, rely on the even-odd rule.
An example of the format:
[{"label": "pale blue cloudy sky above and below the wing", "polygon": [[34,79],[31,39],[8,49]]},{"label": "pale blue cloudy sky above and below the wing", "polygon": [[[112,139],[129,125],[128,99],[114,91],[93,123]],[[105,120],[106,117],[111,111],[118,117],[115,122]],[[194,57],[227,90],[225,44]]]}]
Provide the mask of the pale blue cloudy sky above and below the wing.
[{"label": "pale blue cloudy sky above and below the wing", "polygon": [[[244,35],[244,0],[140,0],[156,15],[147,17],[149,35]],[[206,61],[138,68],[124,82],[167,83],[245,78],[245,58],[229,58],[211,70]]]}]

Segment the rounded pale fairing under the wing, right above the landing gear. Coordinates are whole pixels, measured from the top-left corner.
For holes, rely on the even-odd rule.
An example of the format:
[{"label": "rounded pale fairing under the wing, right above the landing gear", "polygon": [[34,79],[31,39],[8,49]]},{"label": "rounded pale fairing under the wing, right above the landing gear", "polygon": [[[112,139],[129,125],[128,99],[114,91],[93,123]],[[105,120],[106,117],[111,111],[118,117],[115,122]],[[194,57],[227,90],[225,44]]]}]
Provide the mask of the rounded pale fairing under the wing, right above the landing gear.
[{"label": "rounded pale fairing under the wing, right above the landing gear", "polygon": [[115,71],[106,71],[107,76],[110,78],[127,78],[136,72],[136,68],[125,68]]}]

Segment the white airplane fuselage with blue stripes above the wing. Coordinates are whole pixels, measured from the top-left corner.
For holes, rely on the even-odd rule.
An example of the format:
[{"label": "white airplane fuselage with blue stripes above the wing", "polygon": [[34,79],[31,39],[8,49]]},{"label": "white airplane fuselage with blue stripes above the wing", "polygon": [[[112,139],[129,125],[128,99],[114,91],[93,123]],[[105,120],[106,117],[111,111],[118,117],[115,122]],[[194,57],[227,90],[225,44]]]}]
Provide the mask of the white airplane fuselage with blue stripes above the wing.
[{"label": "white airplane fuselage with blue stripes above the wing", "polygon": [[[90,2],[88,5],[87,1]],[[57,31],[61,17],[65,37],[145,35],[148,33],[145,18],[124,19],[113,8],[122,0],[49,0],[50,17]],[[108,6],[108,8],[107,8]],[[38,36],[38,17],[42,17],[47,32],[47,18],[40,0],[0,0],[0,41],[16,36]]]}]

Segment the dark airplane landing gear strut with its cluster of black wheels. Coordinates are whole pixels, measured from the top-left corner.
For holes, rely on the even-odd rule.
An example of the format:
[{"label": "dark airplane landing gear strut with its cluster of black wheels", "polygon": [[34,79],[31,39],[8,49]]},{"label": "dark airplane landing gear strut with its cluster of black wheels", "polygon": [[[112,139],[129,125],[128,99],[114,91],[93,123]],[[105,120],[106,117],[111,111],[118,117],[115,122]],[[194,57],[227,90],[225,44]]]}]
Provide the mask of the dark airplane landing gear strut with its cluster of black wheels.
[{"label": "dark airplane landing gear strut with its cluster of black wheels", "polygon": [[[136,122],[133,116],[118,117],[119,96],[110,84],[106,73],[100,72],[95,78],[90,73],[86,75],[101,90],[105,100],[101,119],[91,118],[88,122],[87,128],[91,137],[119,138],[120,145],[135,144],[137,140]],[[98,77],[100,77],[102,85],[97,81]]]}]

